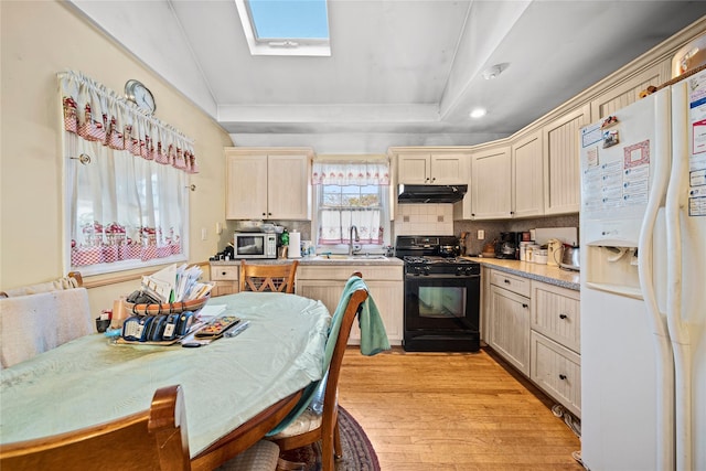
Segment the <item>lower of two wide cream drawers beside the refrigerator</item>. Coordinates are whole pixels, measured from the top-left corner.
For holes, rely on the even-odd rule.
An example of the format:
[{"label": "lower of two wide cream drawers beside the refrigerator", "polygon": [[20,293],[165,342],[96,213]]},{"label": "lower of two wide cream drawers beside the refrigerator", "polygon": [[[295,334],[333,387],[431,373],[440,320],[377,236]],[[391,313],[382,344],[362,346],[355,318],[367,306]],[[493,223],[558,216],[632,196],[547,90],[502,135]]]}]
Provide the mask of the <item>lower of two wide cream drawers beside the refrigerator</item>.
[{"label": "lower of two wide cream drawers beside the refrigerator", "polygon": [[580,356],[532,331],[530,377],[564,407],[581,417]]}]

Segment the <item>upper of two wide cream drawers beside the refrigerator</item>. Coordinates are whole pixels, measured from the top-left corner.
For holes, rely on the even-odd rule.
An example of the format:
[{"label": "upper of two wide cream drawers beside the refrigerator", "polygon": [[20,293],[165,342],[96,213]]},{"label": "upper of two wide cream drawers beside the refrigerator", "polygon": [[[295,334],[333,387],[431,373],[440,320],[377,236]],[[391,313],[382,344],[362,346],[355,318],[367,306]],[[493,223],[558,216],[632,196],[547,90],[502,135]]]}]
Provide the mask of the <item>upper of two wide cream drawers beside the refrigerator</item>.
[{"label": "upper of two wide cream drawers beside the refrigerator", "polygon": [[580,353],[578,291],[533,281],[532,303],[532,329]]}]

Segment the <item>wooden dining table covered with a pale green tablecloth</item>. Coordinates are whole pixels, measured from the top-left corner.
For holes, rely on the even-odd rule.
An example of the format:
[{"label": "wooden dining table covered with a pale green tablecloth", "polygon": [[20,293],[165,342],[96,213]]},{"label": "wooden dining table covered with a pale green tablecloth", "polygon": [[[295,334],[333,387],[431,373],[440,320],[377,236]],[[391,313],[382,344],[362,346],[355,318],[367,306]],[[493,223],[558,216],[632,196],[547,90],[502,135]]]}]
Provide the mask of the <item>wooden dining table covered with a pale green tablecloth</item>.
[{"label": "wooden dining table covered with a pale green tablecloth", "polygon": [[213,469],[274,428],[322,376],[327,308],[296,295],[208,301],[249,321],[233,338],[185,349],[86,335],[0,371],[0,443],[46,437],[150,407],[180,384],[192,469]]}]

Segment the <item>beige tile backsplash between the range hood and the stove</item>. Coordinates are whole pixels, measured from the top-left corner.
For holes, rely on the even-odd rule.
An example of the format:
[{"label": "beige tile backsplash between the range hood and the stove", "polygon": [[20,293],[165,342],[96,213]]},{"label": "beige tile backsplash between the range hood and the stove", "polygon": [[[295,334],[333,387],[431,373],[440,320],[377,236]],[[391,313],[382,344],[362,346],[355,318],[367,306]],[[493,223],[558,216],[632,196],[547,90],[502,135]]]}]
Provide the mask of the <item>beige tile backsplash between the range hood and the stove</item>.
[{"label": "beige tile backsplash between the range hood and the stove", "polygon": [[453,205],[398,204],[395,212],[395,236],[453,235]]}]

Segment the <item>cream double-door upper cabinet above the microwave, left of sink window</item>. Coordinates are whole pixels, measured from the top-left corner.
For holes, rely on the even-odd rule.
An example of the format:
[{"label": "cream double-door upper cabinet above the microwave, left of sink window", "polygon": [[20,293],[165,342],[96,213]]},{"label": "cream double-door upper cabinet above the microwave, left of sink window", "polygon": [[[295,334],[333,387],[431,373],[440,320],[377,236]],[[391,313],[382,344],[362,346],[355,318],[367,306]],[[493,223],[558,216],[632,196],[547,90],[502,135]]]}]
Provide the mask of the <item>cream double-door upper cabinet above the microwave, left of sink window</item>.
[{"label": "cream double-door upper cabinet above the microwave, left of sink window", "polygon": [[311,218],[309,148],[227,148],[227,220]]}]

